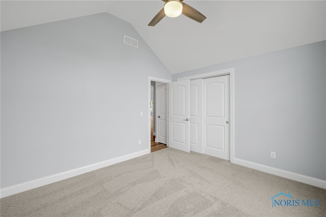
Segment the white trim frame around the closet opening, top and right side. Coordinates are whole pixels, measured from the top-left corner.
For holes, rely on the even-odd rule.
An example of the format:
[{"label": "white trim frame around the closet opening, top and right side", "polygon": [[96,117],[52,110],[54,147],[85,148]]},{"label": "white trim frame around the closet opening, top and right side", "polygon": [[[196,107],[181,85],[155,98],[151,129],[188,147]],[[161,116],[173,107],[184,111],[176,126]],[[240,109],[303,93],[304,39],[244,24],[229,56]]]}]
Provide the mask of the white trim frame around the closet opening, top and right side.
[{"label": "white trim frame around the closet opening, top and right side", "polygon": [[216,77],[222,75],[230,75],[230,162],[234,162],[234,140],[235,140],[235,132],[234,132],[234,68],[224,69],[220,71],[213,71],[198,75],[192,75],[187,77],[180,77],[179,80],[194,80],[208,77]]}]

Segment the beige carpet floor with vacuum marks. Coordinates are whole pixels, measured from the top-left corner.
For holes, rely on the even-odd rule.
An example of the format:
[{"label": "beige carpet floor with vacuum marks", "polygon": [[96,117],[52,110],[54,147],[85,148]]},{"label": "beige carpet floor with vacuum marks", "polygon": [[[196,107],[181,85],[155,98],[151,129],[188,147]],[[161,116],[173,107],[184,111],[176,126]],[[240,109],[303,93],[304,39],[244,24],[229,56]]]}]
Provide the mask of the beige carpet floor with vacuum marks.
[{"label": "beige carpet floor with vacuum marks", "polygon": [[166,148],[0,203],[3,217],[326,216],[326,189]]}]

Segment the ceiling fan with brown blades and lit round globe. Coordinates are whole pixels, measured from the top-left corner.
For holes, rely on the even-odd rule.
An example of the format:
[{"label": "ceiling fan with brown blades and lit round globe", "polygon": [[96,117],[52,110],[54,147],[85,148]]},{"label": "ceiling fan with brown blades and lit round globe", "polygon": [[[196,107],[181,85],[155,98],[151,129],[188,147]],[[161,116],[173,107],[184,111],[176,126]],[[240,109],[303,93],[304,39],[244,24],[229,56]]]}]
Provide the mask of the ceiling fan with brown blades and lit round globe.
[{"label": "ceiling fan with brown blades and lit round globe", "polygon": [[150,21],[149,26],[156,25],[161,19],[165,16],[168,17],[177,17],[180,14],[183,14],[197,22],[202,22],[206,19],[206,17],[197,11],[196,9],[184,4],[183,0],[162,0],[165,2],[164,8],[156,14],[156,16]]}]

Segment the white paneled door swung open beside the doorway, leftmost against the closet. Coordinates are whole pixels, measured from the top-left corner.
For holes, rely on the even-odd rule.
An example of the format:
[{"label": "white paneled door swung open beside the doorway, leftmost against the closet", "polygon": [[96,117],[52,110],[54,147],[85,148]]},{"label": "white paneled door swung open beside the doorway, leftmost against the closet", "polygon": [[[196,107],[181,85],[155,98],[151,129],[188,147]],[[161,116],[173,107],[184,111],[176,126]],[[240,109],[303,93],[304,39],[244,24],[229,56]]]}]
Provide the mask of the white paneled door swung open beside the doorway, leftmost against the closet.
[{"label": "white paneled door swung open beside the doorway, leftmost against the closet", "polygon": [[189,80],[169,83],[169,147],[189,152]]}]

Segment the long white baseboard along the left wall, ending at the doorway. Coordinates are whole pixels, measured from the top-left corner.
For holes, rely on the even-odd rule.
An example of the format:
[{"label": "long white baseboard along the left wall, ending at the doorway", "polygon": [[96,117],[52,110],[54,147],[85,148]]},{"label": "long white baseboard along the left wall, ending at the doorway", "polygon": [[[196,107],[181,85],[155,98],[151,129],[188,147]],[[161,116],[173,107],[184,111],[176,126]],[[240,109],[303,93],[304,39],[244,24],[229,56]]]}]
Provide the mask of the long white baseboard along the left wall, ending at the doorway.
[{"label": "long white baseboard along the left wall, ending at the doorway", "polygon": [[21,192],[24,192],[24,191],[28,191],[28,190],[36,188],[36,187],[40,187],[40,186],[43,186],[43,185],[46,185],[46,184],[61,181],[61,180],[71,178],[73,176],[78,176],[80,174],[88,173],[88,172],[91,172],[91,171],[94,171],[94,170],[98,170],[98,169],[101,169],[103,167],[111,166],[111,165],[117,164],[119,162],[129,160],[129,159],[132,159],[132,158],[135,158],[135,157],[140,157],[142,155],[149,154],[149,153],[150,153],[150,150],[145,149],[143,151],[138,151],[138,152],[135,152],[135,153],[126,154],[126,155],[121,156],[121,157],[116,157],[116,158],[113,158],[113,159],[104,160],[104,161],[98,162],[96,164],[88,165],[88,166],[85,166],[85,167],[80,167],[80,168],[77,168],[77,169],[74,169],[74,170],[69,170],[69,171],[66,171],[66,172],[63,172],[63,173],[58,173],[58,174],[54,174],[54,175],[51,175],[51,176],[46,176],[46,177],[43,177],[43,178],[35,179],[35,180],[32,180],[32,181],[12,185],[12,186],[9,186],[9,187],[4,187],[4,188],[1,188],[1,190],[0,190],[0,195],[1,195],[0,198],[8,197],[10,195],[14,195],[14,194],[18,194],[18,193],[21,193]]}]

